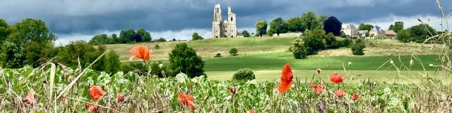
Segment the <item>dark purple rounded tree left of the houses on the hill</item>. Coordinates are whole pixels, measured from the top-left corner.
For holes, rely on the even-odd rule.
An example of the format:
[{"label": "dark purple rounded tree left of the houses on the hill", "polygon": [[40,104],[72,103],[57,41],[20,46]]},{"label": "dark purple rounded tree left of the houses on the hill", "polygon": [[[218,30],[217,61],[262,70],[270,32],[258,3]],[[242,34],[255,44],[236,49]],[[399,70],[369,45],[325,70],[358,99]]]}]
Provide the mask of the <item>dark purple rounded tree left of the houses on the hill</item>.
[{"label": "dark purple rounded tree left of the houses on the hill", "polygon": [[334,35],[340,35],[341,28],[342,23],[340,23],[338,18],[335,18],[334,16],[331,16],[325,20],[323,25],[323,30],[325,30],[326,33],[333,32]]}]

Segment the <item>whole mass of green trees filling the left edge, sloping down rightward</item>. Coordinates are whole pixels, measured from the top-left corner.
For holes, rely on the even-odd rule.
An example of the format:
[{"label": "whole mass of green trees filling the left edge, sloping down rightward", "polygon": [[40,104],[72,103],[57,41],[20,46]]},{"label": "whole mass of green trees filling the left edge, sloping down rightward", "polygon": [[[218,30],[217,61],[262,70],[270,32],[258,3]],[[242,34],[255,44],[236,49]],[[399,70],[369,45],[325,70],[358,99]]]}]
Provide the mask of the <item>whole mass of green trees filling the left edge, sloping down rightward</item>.
[{"label": "whole mass of green trees filling the left edge, sloping down rightward", "polygon": [[[37,67],[52,59],[73,69],[86,68],[105,52],[105,47],[94,47],[85,41],[54,47],[56,39],[42,20],[27,18],[8,25],[0,19],[0,66],[13,69],[25,65]],[[120,66],[119,56],[112,51],[97,61],[92,69],[116,73]]]}]

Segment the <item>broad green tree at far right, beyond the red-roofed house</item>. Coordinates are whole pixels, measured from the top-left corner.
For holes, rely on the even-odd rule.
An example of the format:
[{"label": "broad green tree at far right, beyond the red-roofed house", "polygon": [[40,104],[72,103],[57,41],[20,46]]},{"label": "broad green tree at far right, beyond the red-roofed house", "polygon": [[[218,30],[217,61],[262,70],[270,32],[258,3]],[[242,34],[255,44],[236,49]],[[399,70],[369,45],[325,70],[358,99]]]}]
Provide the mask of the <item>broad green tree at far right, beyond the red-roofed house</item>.
[{"label": "broad green tree at far right, beyond the red-roofed house", "polygon": [[435,35],[436,30],[434,30],[428,24],[421,23],[420,25],[415,25],[411,28],[408,28],[408,32],[410,32],[411,41],[421,43],[427,40],[427,37],[432,37],[433,35]]}]

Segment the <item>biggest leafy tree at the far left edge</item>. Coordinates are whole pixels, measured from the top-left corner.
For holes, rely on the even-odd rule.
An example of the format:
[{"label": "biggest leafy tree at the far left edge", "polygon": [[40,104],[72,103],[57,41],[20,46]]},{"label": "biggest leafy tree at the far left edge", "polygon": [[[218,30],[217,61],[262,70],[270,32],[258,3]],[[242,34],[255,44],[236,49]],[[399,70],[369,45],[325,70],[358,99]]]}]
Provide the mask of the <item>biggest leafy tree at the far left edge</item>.
[{"label": "biggest leafy tree at the far left edge", "polygon": [[[57,37],[42,20],[27,18],[15,23],[11,26],[11,34],[6,37],[8,44],[2,45],[0,58],[2,66],[8,68],[20,68],[25,64],[38,66],[39,62],[35,61],[52,57],[53,42],[56,39]],[[9,61],[17,62],[8,63]]]}]

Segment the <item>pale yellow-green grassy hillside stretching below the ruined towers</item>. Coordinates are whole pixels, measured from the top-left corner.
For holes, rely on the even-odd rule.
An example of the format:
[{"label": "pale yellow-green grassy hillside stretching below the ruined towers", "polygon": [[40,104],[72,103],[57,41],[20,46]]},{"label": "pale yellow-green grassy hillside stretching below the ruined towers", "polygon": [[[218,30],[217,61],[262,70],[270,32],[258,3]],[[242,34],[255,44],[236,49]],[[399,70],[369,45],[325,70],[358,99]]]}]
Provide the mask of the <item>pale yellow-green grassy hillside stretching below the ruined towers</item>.
[{"label": "pale yellow-green grassy hillside stretching below the ruined towers", "polygon": [[[223,52],[223,56],[229,54],[231,48],[237,48],[240,56],[246,54],[270,54],[286,52],[292,40],[295,37],[256,37],[256,38],[215,38],[207,40],[185,41],[190,47],[197,50],[198,55],[203,58],[213,58],[216,52]],[[338,37],[339,40],[342,38]],[[182,42],[146,42],[136,44],[106,44],[107,50],[114,50],[120,56],[121,61],[126,61],[130,57],[129,49],[136,45],[145,44],[154,53],[151,59],[165,60],[171,49]],[[424,44],[422,47],[417,43],[401,43],[397,40],[368,40],[365,41],[367,48],[364,49],[364,56],[386,56],[390,53],[400,55],[415,54],[434,54],[439,51],[439,45]],[[160,49],[155,49],[155,44]],[[352,56],[350,48],[343,47],[339,49],[327,49],[319,52],[314,57],[339,57]]]}]

